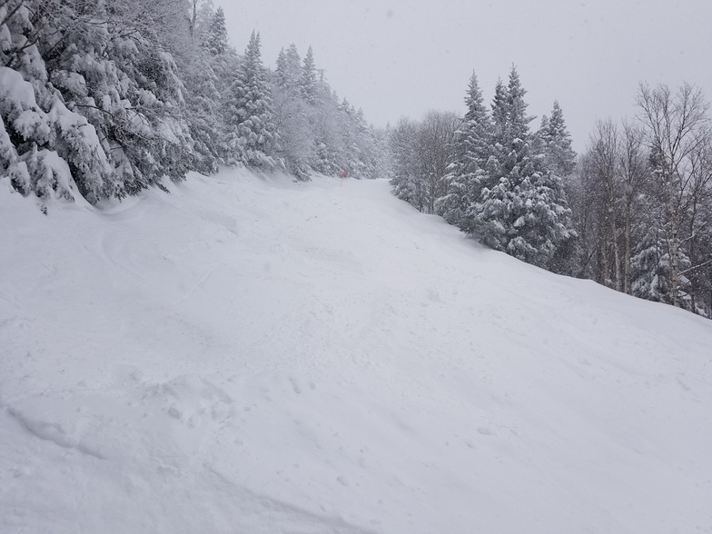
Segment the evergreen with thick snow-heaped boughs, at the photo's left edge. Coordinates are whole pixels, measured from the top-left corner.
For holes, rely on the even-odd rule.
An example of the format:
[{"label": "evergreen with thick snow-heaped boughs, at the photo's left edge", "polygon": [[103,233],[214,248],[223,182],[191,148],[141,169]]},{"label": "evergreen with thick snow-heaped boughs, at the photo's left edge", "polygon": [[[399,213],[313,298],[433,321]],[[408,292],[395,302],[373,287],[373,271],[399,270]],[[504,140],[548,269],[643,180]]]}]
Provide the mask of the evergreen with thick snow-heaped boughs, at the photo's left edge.
[{"label": "evergreen with thick snow-heaped boughs, at the photo's left edge", "polygon": [[[0,176],[43,203],[78,193],[95,203],[121,184],[94,127],[67,108],[51,82],[55,74],[55,83],[82,92],[84,78],[52,73],[43,57],[76,46],[67,35],[81,20],[71,5],[56,5],[52,13],[40,7],[38,0],[0,5]],[[94,32],[104,35],[104,28]]]}]

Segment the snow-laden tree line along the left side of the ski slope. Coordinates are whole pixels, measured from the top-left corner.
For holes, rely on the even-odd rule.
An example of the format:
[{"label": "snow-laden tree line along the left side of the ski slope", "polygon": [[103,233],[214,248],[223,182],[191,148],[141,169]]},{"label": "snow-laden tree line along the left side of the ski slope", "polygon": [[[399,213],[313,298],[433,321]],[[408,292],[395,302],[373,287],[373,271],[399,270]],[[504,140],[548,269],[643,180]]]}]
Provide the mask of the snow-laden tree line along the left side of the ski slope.
[{"label": "snow-laden tree line along the left side of the ski slope", "polygon": [[243,54],[205,0],[0,2],[0,176],[90,203],[221,164],[384,173],[383,134],[340,101],[313,53]]}]

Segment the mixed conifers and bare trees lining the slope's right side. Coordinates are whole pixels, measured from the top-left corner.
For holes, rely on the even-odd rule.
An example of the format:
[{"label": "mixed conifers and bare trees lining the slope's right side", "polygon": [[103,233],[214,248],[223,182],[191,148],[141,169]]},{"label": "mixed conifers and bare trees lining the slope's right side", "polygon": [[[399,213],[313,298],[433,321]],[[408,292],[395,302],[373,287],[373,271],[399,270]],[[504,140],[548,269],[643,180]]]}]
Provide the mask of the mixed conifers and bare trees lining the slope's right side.
[{"label": "mixed conifers and bare trees lining the slope's right side", "polygon": [[712,121],[702,92],[641,84],[638,113],[572,150],[554,102],[539,129],[515,67],[488,106],[389,131],[392,191],[485,245],[552,272],[712,317]]}]

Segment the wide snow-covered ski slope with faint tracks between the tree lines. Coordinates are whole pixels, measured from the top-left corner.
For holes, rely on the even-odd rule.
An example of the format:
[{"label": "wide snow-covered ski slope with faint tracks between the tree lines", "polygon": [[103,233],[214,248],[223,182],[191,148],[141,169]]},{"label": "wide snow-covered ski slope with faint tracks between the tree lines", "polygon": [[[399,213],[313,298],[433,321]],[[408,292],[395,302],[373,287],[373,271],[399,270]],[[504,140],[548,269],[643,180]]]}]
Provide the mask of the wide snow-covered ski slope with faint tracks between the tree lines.
[{"label": "wide snow-covered ski slope with faint tracks between the tree lines", "polygon": [[0,181],[0,532],[712,531],[712,321],[388,189]]}]

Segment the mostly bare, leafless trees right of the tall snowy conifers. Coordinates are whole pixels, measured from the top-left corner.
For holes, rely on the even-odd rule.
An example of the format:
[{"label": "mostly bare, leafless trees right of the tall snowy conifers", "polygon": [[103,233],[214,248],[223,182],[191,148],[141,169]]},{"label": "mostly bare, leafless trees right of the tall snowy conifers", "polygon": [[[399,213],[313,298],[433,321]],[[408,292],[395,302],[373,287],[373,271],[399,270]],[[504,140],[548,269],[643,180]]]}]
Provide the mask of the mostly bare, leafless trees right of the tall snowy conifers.
[{"label": "mostly bare, leafless trees right of the tall snowy conifers", "polygon": [[698,88],[641,84],[596,124],[570,181],[578,276],[712,316],[712,123]]}]

